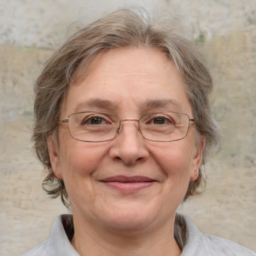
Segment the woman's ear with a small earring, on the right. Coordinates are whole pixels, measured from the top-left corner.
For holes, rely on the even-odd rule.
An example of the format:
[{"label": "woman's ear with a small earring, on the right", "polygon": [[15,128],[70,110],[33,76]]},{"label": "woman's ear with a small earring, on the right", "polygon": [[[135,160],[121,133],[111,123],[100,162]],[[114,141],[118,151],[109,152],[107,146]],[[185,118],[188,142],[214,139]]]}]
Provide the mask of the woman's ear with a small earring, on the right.
[{"label": "woman's ear with a small earring, on the right", "polygon": [[199,167],[202,163],[202,152],[205,145],[205,140],[201,138],[200,142],[195,145],[194,155],[191,162],[190,181],[195,181],[198,178]]}]

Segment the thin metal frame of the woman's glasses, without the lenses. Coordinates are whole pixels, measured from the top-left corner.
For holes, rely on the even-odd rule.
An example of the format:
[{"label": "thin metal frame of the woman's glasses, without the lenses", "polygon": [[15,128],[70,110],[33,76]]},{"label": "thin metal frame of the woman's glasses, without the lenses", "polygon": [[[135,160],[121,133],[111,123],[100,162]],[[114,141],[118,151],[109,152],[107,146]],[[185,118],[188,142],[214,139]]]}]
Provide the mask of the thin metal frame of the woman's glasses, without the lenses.
[{"label": "thin metal frame of the woman's glasses, without the lenses", "polygon": [[[69,125],[68,125],[68,120],[69,120],[69,117],[73,114],[78,114],[78,113],[102,113],[102,114],[110,114],[112,116],[115,116],[118,120],[119,120],[119,125],[118,127],[116,128],[116,134],[112,137],[112,138],[109,138],[109,139],[105,139],[105,140],[83,140],[83,139],[79,139],[79,138],[76,138],[74,137],[71,132],[70,132],[70,129],[69,129]],[[154,139],[148,139],[146,137],[144,137],[143,133],[141,132],[141,129],[140,129],[140,126],[139,126],[139,120],[146,116],[146,115],[149,115],[149,114],[155,114],[155,113],[164,113],[164,112],[168,112],[168,113],[178,113],[178,114],[184,114],[188,117],[188,127],[187,127],[187,131],[185,133],[185,135],[181,138],[177,138],[177,139],[171,139],[171,140],[154,140]],[[155,112],[150,112],[150,113],[146,113],[146,114],[143,114],[142,116],[140,116],[138,119],[120,119],[117,115],[115,114],[112,114],[112,113],[108,113],[108,112],[102,112],[102,111],[81,111],[81,112],[75,112],[75,113],[71,113],[67,116],[67,118],[65,119],[56,119],[56,122],[60,122],[60,123],[66,123],[67,122],[67,127],[68,127],[68,131],[69,131],[69,134],[72,138],[76,139],[76,140],[80,140],[80,141],[84,141],[84,142],[104,142],[104,141],[109,141],[109,140],[112,140],[114,139],[117,134],[119,133],[119,131],[121,130],[120,127],[121,127],[121,122],[122,121],[137,121],[138,122],[138,130],[140,132],[140,134],[142,135],[142,137],[146,140],[149,140],[149,141],[156,141],[156,142],[169,142],[169,141],[176,141],[176,140],[180,140],[180,139],[183,139],[186,137],[187,133],[188,133],[188,130],[189,130],[189,127],[190,127],[190,121],[191,122],[195,122],[195,117],[193,118],[190,118],[188,114],[186,113],[182,113],[182,112],[175,112],[175,111],[168,111],[168,110],[163,110],[163,111],[155,111]]]}]

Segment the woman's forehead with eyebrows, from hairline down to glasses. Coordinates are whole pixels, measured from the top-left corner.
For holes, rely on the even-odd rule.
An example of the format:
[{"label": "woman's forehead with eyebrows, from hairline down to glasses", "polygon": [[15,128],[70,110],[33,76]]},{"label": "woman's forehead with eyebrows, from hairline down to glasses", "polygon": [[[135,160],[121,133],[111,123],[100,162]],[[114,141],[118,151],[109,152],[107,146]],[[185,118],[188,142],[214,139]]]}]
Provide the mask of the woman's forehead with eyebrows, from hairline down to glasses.
[{"label": "woman's forehead with eyebrows, from hairline down to glasses", "polygon": [[101,53],[86,78],[68,89],[63,112],[111,108],[187,112],[190,104],[182,78],[164,53],[130,47]]}]

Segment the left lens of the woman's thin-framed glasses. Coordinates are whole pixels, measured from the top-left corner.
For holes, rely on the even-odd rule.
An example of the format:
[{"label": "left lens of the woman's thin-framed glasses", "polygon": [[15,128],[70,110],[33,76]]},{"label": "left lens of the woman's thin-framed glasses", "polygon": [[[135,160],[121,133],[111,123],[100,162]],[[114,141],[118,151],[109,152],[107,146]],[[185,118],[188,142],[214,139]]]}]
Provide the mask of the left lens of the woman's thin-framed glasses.
[{"label": "left lens of the woman's thin-framed glasses", "polygon": [[71,136],[82,141],[104,141],[113,139],[119,127],[119,118],[105,112],[79,112],[68,117]]}]

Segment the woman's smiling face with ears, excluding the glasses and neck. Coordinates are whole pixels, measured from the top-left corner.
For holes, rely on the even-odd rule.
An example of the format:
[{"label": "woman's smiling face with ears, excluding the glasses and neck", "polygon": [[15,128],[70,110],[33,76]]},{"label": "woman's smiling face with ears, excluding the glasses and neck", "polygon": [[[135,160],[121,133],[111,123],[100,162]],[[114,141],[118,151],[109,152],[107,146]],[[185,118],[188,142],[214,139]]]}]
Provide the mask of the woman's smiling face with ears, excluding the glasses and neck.
[{"label": "woman's smiling face with ears, excluding the glasses and neck", "polygon": [[[146,47],[102,53],[84,81],[70,86],[60,118],[91,110],[120,119],[161,110],[192,117],[176,68],[158,49]],[[137,121],[121,125],[113,140],[84,142],[61,123],[58,142],[49,143],[51,164],[64,180],[74,220],[117,231],[166,225],[174,221],[189,180],[197,178],[203,142],[196,146],[193,124],[185,138],[170,142],[144,139]]]}]

